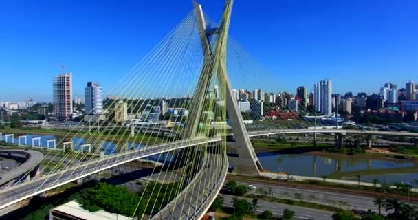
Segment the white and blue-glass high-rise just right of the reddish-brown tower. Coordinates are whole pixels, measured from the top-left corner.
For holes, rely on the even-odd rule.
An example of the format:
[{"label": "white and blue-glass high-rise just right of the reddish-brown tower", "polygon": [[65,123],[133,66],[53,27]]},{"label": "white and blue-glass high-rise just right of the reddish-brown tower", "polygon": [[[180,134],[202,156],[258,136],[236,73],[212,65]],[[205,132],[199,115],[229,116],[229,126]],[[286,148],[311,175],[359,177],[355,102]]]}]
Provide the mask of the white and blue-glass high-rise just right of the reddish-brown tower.
[{"label": "white and blue-glass high-rise just right of the reddish-brown tower", "polygon": [[85,113],[98,115],[103,113],[103,89],[98,83],[88,82],[85,91]]}]

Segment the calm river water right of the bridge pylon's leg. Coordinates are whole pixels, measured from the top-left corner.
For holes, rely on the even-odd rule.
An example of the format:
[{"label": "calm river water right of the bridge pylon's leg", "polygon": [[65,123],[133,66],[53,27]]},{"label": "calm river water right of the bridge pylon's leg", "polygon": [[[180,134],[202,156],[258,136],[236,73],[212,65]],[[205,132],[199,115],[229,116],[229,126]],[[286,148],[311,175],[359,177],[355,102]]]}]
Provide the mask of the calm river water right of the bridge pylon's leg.
[{"label": "calm river water right of the bridge pylon's leg", "polygon": [[292,175],[373,181],[412,183],[418,179],[418,164],[406,159],[362,159],[311,154],[258,153],[264,169]]}]

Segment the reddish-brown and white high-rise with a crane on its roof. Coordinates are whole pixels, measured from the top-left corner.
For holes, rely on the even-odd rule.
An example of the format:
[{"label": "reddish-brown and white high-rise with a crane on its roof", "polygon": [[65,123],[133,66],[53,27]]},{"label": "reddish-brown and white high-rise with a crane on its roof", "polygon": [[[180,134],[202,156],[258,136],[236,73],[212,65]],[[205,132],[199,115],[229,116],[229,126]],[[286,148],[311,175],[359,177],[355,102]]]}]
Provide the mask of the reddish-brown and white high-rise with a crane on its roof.
[{"label": "reddish-brown and white high-rise with a crane on its roof", "polygon": [[73,95],[72,95],[72,73],[63,73],[55,76],[52,80],[52,93],[54,114],[57,120],[72,120]]}]

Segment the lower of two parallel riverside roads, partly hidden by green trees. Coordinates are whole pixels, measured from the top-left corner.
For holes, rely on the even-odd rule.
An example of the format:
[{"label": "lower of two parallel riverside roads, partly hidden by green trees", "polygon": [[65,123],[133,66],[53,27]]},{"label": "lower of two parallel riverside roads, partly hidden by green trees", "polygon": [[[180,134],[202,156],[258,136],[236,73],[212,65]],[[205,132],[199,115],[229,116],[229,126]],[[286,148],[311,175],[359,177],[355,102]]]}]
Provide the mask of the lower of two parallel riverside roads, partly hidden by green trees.
[{"label": "lower of two parallel riverside roads, partly hidden by green trees", "polygon": [[[234,199],[234,196],[232,195],[219,195],[223,198],[223,206],[226,207],[232,207],[232,202]],[[251,203],[252,199],[239,197],[239,199],[246,199],[248,202]],[[305,208],[300,206],[291,206],[286,205],[283,203],[274,203],[270,201],[263,201],[259,199],[259,208],[257,208],[257,212],[261,213],[265,210],[270,210],[273,212],[276,216],[281,216],[283,213],[283,210],[285,208],[292,210],[295,212],[294,219],[321,219],[321,220],[331,220],[331,216],[333,212],[325,211],[325,210],[318,210],[313,208]]]}]

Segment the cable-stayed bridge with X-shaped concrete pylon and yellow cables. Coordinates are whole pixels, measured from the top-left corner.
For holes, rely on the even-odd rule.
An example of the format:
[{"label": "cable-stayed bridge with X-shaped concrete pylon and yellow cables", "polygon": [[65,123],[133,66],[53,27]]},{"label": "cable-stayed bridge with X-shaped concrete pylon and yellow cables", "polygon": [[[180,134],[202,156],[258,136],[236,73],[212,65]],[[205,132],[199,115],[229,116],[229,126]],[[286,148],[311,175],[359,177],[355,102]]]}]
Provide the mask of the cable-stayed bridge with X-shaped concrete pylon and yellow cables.
[{"label": "cable-stayed bridge with X-shaped concrete pylon and yellow cables", "polygon": [[[243,113],[232,87],[234,81],[230,79],[230,73],[235,72],[247,78],[249,74],[257,77],[264,70],[251,65],[252,58],[245,55],[241,46],[228,36],[232,3],[232,0],[226,1],[219,23],[204,14],[201,5],[194,3],[194,10],[111,91],[116,97],[104,103],[108,120],[91,121],[89,127],[94,128],[91,131],[74,128],[62,137],[56,144],[61,148],[50,151],[50,156],[58,163],[51,164],[49,170],[40,168],[40,174],[35,177],[26,174],[15,184],[0,188],[0,208],[114,166],[151,155],[161,160],[163,153],[169,153],[172,159],[165,157],[164,164],[168,164],[166,171],[168,167],[181,168],[179,188],[161,190],[151,185],[151,179],[148,180],[145,188],[153,187],[153,194],[170,198],[170,201],[163,206],[141,197],[132,217],[199,219],[208,210],[225,180],[228,135],[233,135],[236,142],[241,161],[238,164],[239,172],[259,175],[263,168],[252,148],[250,137],[278,133],[318,133],[320,131],[317,129],[309,128],[314,125],[332,126],[332,123],[305,120],[297,114],[289,115],[292,118],[284,120],[261,118],[263,111],[273,111],[271,106],[269,109],[263,102],[248,102],[254,111]],[[192,96],[169,101],[168,98],[159,98],[173,92]],[[151,110],[162,111],[165,102],[173,109],[187,110],[187,114],[170,115],[166,126],[153,126],[150,123],[126,126],[121,120],[126,118],[124,111],[140,114],[144,120],[159,117]],[[252,120],[252,123],[247,124],[245,121],[248,120]],[[334,125],[338,126],[338,123]],[[338,129],[322,131],[351,132]],[[155,137],[153,133],[168,135]],[[115,146],[111,155],[106,156],[103,154],[109,150],[107,142]],[[91,155],[103,156],[97,158]],[[30,172],[34,169],[38,169],[38,166],[34,166]],[[157,180],[170,179],[170,175],[173,173],[160,172]]]}]

